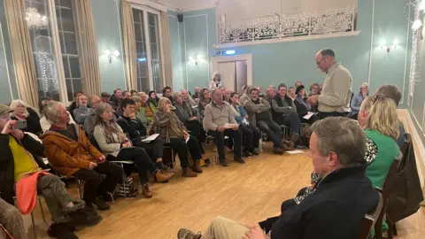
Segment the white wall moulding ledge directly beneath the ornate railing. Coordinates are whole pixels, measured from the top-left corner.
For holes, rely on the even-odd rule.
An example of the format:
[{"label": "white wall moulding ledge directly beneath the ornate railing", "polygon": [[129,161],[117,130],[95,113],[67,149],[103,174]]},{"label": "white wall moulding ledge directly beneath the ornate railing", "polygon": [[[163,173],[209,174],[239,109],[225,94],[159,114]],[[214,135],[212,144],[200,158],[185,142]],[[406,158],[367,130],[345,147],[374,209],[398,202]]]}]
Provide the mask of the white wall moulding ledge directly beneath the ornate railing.
[{"label": "white wall moulding ledge directly beneath the ornate railing", "polygon": [[298,41],[307,41],[307,40],[316,40],[316,39],[326,39],[326,38],[335,38],[335,37],[344,37],[344,36],[352,36],[359,35],[361,31],[352,31],[352,32],[344,32],[344,33],[334,33],[334,34],[324,34],[324,35],[300,35],[297,37],[287,37],[287,38],[278,38],[278,39],[270,39],[256,42],[230,42],[224,44],[214,44],[214,48],[223,49],[228,47],[240,47],[240,46],[249,46],[249,45],[260,45],[260,44],[271,44],[271,43],[279,43],[279,42],[298,42]]}]

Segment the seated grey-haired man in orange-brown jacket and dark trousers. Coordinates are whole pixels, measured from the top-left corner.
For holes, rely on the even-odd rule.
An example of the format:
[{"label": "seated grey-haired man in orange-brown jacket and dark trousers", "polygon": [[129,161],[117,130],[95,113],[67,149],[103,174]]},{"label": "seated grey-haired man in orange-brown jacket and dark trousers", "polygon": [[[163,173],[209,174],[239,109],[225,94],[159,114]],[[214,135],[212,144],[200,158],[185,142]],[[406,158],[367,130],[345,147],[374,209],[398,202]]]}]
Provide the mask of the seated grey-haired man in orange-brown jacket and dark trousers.
[{"label": "seated grey-haired man in orange-brown jacket and dark trousers", "polygon": [[[85,181],[84,201],[96,204],[99,210],[108,210],[105,201],[121,179],[120,166],[106,162],[104,155],[90,142],[81,127],[68,124],[69,113],[58,102],[50,102],[45,108],[51,127],[42,135],[45,155],[59,173]],[[106,174],[104,180],[100,174]],[[97,199],[97,196],[102,196]]]}]

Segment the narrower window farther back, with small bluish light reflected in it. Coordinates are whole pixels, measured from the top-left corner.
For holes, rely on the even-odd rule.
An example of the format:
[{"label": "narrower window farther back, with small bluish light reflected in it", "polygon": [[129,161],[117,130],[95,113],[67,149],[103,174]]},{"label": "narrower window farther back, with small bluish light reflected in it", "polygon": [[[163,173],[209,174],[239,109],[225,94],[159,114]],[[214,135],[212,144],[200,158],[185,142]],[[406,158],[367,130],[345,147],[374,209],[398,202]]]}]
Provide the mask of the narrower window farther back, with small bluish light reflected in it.
[{"label": "narrower window farther back, with small bluish light reflected in it", "polygon": [[137,90],[151,89],[160,93],[164,88],[158,12],[133,8],[137,64]]}]

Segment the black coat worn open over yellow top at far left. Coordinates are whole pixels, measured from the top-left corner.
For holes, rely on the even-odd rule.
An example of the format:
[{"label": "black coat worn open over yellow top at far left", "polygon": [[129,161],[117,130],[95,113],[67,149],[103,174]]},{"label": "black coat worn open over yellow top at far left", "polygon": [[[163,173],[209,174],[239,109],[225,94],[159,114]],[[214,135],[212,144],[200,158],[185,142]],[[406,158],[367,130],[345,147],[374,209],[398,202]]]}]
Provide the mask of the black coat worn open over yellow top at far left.
[{"label": "black coat worn open over yellow top at far left", "polygon": [[[19,143],[19,140],[16,141]],[[44,162],[42,162],[42,158],[40,158],[44,155],[44,146],[42,143],[37,142],[29,135],[24,135],[19,144],[33,154],[38,166],[42,169],[47,168]],[[15,184],[15,162],[13,160],[12,150],[9,147],[9,135],[0,134],[0,152],[2,154],[0,157],[0,196],[4,201],[13,204],[13,196],[15,196],[13,189]]]}]

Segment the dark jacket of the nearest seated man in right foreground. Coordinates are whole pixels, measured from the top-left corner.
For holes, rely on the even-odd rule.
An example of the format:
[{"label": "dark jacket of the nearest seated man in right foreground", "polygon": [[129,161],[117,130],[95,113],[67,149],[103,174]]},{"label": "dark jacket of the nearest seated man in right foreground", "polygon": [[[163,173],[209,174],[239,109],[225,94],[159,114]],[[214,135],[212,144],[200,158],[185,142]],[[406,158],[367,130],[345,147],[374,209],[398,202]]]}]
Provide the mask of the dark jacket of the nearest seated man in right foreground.
[{"label": "dark jacket of the nearest seated man in right foreground", "polygon": [[282,204],[284,212],[274,222],[271,238],[356,239],[361,220],[378,202],[366,165],[338,169],[300,204]]}]

